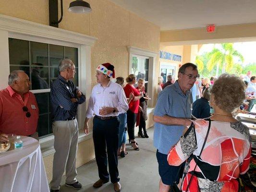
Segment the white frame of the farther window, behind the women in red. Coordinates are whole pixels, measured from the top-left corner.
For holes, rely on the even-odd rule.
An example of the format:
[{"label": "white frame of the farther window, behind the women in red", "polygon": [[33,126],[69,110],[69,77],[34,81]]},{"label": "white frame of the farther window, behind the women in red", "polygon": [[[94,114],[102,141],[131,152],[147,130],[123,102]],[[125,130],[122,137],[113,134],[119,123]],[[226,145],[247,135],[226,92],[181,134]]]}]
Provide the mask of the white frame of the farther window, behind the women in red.
[{"label": "white frame of the farther window, behind the women in red", "polygon": [[156,72],[156,59],[158,56],[158,52],[155,51],[150,51],[142,48],[135,48],[128,46],[128,51],[129,51],[129,74],[132,72],[132,59],[133,57],[145,57],[149,59],[148,62],[148,86],[147,86],[147,92],[148,96],[151,98],[148,102],[148,106],[150,108],[153,108],[153,101],[154,99],[154,84],[153,80],[155,79],[155,72]]}]

